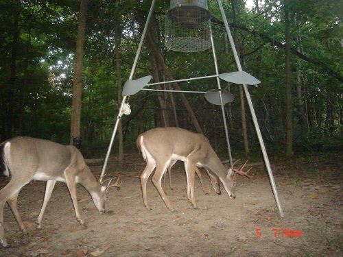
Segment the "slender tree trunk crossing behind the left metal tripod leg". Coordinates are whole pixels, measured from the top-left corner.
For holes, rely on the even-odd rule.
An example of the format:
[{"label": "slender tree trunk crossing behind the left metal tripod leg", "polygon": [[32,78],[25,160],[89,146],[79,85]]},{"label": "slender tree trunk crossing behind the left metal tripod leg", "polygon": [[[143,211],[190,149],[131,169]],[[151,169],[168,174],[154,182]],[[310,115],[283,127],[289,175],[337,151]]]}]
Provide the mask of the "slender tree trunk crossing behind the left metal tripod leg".
[{"label": "slender tree trunk crossing behind the left metal tripod leg", "polygon": [[[120,72],[120,42],[121,42],[121,29],[119,29],[119,19],[115,19],[115,71],[118,77],[118,108],[120,108],[121,104],[121,72]],[[118,162],[119,164],[123,164],[124,160],[124,147],[123,147],[123,126],[121,123],[121,119],[119,120],[118,124]]]}]

